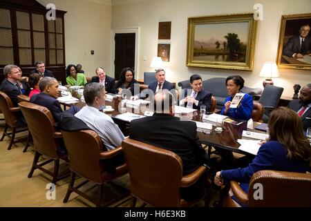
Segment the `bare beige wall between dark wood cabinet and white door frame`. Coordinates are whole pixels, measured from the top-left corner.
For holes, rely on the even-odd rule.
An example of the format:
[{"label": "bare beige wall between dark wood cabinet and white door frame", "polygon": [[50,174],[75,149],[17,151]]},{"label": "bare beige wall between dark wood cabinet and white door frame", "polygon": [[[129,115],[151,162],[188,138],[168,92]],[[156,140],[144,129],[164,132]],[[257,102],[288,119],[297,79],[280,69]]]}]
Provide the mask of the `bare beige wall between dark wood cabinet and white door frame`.
[{"label": "bare beige wall between dark wood cabinet and white door frame", "polygon": [[[66,65],[82,64],[87,77],[95,68],[111,70],[111,6],[86,0],[38,0],[65,14]],[[94,55],[91,55],[94,50]],[[107,75],[111,75],[107,71]]]}]

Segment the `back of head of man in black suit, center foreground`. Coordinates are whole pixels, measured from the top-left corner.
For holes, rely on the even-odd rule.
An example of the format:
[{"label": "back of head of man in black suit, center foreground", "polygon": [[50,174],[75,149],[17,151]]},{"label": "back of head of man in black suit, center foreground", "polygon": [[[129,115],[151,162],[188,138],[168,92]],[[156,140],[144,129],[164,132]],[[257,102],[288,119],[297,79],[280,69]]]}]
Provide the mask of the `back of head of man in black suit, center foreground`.
[{"label": "back of head of man in black suit, center foreground", "polygon": [[[175,98],[169,90],[159,90],[153,99],[154,113],[169,113],[169,108],[175,105]],[[160,108],[157,108],[159,107]]]}]

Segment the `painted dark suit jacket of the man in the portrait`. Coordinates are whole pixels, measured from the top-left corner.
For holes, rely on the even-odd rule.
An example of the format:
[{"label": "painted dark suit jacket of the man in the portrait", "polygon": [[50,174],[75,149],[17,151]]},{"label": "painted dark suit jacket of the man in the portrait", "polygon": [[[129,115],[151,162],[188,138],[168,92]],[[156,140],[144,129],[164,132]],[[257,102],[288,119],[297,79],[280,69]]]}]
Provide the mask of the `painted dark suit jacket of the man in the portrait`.
[{"label": "painted dark suit jacket of the man in the portrait", "polygon": [[[288,44],[286,44],[283,50],[283,55],[292,57],[294,53],[299,53],[300,49],[301,49],[300,37],[299,36],[291,37],[290,40],[288,40]],[[305,49],[307,50],[307,54],[311,53],[311,37],[310,36],[305,37]]]}]

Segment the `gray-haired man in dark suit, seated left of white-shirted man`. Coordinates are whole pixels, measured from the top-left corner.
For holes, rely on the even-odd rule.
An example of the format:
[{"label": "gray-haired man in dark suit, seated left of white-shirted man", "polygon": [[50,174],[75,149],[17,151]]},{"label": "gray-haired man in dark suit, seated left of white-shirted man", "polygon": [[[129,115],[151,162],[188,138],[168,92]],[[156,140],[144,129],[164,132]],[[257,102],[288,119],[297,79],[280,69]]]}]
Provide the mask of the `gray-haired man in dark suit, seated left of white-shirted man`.
[{"label": "gray-haired man in dark suit, seated left of white-shirted man", "polygon": [[[54,77],[44,77],[39,82],[41,93],[33,95],[30,102],[45,106],[52,113],[55,121],[59,122],[59,113],[63,110],[57,100],[58,97],[58,81]],[[79,108],[75,105],[71,106],[67,112],[75,115]]]}]

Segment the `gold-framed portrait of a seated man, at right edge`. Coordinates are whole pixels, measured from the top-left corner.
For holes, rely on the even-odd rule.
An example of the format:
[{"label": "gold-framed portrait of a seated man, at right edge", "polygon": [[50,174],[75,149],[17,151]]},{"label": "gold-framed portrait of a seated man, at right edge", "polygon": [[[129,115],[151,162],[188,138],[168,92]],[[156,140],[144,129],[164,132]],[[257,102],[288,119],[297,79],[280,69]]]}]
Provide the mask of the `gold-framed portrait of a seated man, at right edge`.
[{"label": "gold-framed portrait of a seated man, at right edge", "polygon": [[[276,64],[279,68],[311,70],[311,32],[305,37],[305,52],[301,52],[299,38],[301,28],[311,26],[311,14],[282,15]],[[294,54],[300,53],[304,58],[297,59]],[[295,55],[294,55],[295,56]]]}]

